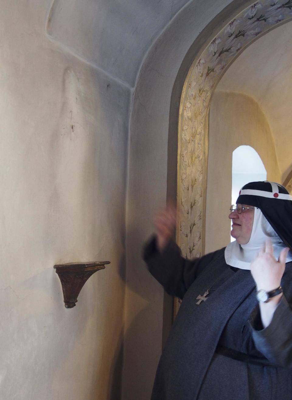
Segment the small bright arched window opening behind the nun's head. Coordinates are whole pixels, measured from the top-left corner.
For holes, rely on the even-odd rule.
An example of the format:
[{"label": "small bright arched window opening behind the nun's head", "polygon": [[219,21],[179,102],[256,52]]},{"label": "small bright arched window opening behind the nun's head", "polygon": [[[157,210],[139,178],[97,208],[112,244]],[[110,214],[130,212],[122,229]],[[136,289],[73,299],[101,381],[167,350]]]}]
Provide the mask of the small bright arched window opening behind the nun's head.
[{"label": "small bright arched window opening behind the nun's head", "polygon": [[[264,164],[254,148],[239,146],[232,153],[232,194],[231,204],[235,204],[240,188],[248,182],[266,180]],[[231,242],[235,240],[231,236]]]}]

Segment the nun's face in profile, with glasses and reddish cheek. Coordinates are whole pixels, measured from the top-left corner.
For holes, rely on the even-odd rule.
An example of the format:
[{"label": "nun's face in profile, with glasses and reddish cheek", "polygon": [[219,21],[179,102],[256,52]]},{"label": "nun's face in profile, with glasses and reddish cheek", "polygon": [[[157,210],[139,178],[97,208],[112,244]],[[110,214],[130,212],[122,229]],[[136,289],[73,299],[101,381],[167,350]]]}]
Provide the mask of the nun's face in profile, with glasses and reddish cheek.
[{"label": "nun's face in profile, with glasses and reddish cheek", "polygon": [[[242,204],[245,207],[247,204]],[[238,214],[236,210],[230,212],[230,220],[232,220],[231,236],[236,239],[239,244],[246,244],[250,240],[252,234],[252,225],[254,223],[254,210],[243,210],[241,214]]]}]

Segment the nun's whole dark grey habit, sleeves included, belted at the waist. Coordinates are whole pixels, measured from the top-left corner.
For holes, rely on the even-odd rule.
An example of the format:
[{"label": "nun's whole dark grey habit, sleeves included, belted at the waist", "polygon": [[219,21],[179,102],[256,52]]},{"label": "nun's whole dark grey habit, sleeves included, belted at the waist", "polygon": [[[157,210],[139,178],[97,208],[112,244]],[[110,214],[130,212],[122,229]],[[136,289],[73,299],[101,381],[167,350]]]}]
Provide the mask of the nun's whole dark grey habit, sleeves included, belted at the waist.
[{"label": "nun's whole dark grey habit, sleeves included, belted at the waist", "polygon": [[292,399],[292,262],[281,282],[284,296],[263,329],[250,271],[228,266],[224,248],[186,260],[175,243],[160,254],[154,238],[144,260],[166,291],[183,299],[151,400]]}]

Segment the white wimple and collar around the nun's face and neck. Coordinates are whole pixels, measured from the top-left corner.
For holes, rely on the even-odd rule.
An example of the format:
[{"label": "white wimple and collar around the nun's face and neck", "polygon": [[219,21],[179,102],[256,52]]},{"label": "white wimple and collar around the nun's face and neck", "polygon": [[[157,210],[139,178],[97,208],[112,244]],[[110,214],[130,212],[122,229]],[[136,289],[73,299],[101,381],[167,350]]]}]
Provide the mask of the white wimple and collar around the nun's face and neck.
[{"label": "white wimple and collar around the nun's face and neck", "polygon": [[[273,243],[274,257],[278,260],[280,252],[286,245],[276,234],[268,220],[259,208],[254,209],[254,223],[252,233],[247,244],[238,244],[236,241],[229,243],[225,248],[226,264],[242,270],[250,270],[250,263],[256,258],[266,240],[270,238]],[[291,252],[288,253],[286,262],[292,261]]]}]

